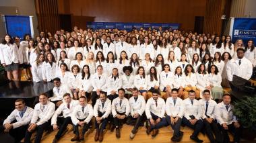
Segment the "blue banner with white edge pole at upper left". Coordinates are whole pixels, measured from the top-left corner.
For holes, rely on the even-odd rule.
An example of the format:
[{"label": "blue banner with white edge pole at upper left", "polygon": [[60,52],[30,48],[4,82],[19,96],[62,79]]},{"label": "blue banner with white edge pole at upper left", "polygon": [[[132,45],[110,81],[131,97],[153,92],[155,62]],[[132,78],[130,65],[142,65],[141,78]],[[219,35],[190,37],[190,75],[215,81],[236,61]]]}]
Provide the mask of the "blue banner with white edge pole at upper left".
[{"label": "blue banner with white edge pole at upper left", "polygon": [[6,33],[10,36],[19,36],[23,39],[25,34],[34,38],[32,16],[3,15]]}]

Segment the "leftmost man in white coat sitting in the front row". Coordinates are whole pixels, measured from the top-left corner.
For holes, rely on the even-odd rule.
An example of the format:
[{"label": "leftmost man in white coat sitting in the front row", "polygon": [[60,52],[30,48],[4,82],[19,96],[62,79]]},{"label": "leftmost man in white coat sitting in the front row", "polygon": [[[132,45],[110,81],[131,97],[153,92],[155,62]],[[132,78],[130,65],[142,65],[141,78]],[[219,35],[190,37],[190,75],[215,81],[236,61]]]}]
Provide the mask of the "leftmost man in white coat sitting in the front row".
[{"label": "leftmost man in white coat sitting in the front row", "polygon": [[28,129],[34,109],[26,106],[24,99],[16,99],[14,104],[15,109],[3,121],[3,128],[5,128],[4,132],[8,132],[15,142],[20,142]]}]

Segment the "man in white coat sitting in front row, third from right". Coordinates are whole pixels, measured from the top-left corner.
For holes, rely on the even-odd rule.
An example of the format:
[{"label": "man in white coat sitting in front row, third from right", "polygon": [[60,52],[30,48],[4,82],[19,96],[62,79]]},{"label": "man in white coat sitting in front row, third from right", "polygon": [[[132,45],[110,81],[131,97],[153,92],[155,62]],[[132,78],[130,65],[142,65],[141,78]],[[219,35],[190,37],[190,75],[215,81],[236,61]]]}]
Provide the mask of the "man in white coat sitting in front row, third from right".
[{"label": "man in white coat sitting in front row, third from right", "polygon": [[185,107],[183,124],[194,129],[193,134],[190,136],[191,140],[195,140],[195,142],[203,142],[203,140],[200,140],[197,137],[203,128],[203,121],[201,120],[202,108],[199,101],[195,99],[195,91],[189,91],[189,97],[183,100],[183,104]]}]

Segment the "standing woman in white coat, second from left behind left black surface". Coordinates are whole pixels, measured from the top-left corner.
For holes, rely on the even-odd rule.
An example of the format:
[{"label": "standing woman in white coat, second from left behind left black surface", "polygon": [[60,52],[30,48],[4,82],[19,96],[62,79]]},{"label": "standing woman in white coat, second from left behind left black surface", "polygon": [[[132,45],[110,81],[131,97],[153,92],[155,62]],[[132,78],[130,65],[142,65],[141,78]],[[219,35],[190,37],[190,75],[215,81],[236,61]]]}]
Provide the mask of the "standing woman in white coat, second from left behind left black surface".
[{"label": "standing woman in white coat, second from left behind left black surface", "polygon": [[56,60],[50,52],[46,54],[45,61],[42,63],[42,80],[52,82],[56,77]]}]

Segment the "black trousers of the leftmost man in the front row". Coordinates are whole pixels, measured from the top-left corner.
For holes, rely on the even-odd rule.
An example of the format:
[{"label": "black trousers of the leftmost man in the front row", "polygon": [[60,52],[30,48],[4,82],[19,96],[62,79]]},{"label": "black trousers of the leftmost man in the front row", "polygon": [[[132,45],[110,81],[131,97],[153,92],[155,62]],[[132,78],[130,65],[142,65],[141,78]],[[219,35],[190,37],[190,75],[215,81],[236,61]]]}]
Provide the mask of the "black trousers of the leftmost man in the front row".
[{"label": "black trousers of the leftmost man in the front row", "polygon": [[20,126],[15,129],[9,130],[9,135],[14,138],[15,142],[20,142],[24,138],[28,125]]}]

